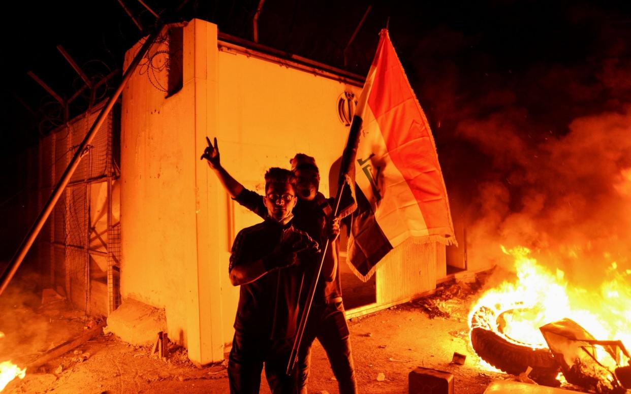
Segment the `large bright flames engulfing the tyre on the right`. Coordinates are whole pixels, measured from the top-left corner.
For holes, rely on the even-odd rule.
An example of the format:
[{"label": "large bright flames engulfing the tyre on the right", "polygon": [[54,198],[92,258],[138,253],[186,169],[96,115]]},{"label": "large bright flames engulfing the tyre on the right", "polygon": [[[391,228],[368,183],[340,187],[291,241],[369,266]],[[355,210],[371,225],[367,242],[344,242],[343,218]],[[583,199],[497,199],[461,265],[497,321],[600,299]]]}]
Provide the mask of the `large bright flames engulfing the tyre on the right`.
[{"label": "large bright flames engulfing the tyre on the right", "polygon": [[[539,327],[570,318],[596,339],[622,340],[625,347],[630,348],[631,286],[628,281],[631,270],[618,272],[616,262],[611,262],[604,272],[606,280],[600,291],[587,291],[569,284],[563,271],[551,272],[539,265],[529,257],[528,248],[518,246],[506,250],[502,246],[502,250],[515,258],[517,279],[504,281],[483,293],[469,313],[469,324],[476,313],[489,313],[497,316],[487,319],[495,327],[485,328],[502,332],[507,340],[516,344],[536,349],[547,347]],[[597,349],[599,361],[614,368],[615,361],[604,349]]]}]

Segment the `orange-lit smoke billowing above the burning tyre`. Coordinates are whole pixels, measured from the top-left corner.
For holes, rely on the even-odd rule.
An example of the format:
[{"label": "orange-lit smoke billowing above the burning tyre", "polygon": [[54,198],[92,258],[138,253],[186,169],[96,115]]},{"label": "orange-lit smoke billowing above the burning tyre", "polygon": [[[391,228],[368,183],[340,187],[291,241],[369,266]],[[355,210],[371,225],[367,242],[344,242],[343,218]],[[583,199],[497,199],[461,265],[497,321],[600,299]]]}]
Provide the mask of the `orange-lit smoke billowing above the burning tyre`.
[{"label": "orange-lit smoke billowing above the burning tyre", "polygon": [[468,233],[471,259],[501,261],[498,245],[522,245],[577,279],[602,276],[612,262],[628,267],[631,105],[577,118],[567,134],[535,143],[514,116],[469,120],[458,130],[495,170],[473,204],[480,215]]}]

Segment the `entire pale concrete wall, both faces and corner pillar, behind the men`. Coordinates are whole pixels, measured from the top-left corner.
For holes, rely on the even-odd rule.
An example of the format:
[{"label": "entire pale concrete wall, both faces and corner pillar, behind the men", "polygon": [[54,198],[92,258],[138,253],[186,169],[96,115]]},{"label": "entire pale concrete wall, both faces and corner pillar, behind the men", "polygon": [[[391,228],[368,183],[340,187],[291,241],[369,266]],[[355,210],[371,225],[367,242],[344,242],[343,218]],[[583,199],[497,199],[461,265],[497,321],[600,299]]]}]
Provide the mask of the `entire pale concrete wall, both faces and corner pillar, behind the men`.
[{"label": "entire pale concrete wall, both faces and corner pillar, behind the men", "polygon": [[[126,63],[138,47],[129,50]],[[159,57],[154,62],[159,66]],[[200,20],[184,27],[183,63],[184,84],[174,95],[156,89],[147,70],[136,72],[123,93],[121,291],[124,298],[165,308],[169,337],[203,364],[223,358],[223,344],[232,340],[239,299],[238,287],[228,281],[232,240],[261,221],[230,200],[199,160],[204,137],[217,137],[223,165],[247,188],[263,192],[264,172],[288,167],[301,152],[316,158],[326,191],[329,169],[348,137],[337,100],[361,88],[218,48],[216,26]],[[166,71],[155,78],[167,86]],[[410,245],[391,253],[419,253],[423,263],[408,264],[418,275],[403,287],[406,294],[435,284],[436,248]],[[388,270],[384,279],[409,276]],[[405,296],[385,292],[386,301]]]}]

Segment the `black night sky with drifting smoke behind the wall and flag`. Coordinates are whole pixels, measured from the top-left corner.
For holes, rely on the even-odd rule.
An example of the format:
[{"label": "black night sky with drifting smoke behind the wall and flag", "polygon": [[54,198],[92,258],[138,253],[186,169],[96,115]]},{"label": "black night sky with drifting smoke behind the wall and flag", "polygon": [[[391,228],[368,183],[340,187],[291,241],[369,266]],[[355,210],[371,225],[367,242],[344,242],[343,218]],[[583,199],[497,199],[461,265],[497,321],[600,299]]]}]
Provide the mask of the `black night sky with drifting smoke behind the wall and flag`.
[{"label": "black night sky with drifting smoke behind the wall and flag", "polygon": [[[123,3],[147,31],[155,25],[140,3]],[[167,21],[202,18],[217,23],[221,32],[251,39],[259,1],[189,0],[179,12],[174,11],[178,1],[146,3]],[[27,71],[68,97],[81,80],[56,45],[63,45],[90,76],[99,76],[120,68],[124,51],[141,37],[114,0],[16,5],[2,26],[0,212],[3,217],[12,212],[3,226],[8,229],[3,260],[30,225],[20,211],[33,187],[33,180],[25,178],[23,151],[58,124],[61,113]],[[508,223],[514,214],[533,223],[531,246],[544,248],[541,240],[551,238],[563,241],[579,213],[572,211],[574,219],[560,215],[565,203],[558,201],[568,194],[584,199],[581,212],[594,216],[584,215],[577,232],[582,224],[593,227],[596,216],[603,219],[590,204],[609,201],[616,176],[631,167],[631,137],[624,138],[631,136],[631,128],[626,129],[631,124],[631,3],[266,0],[259,42],[344,68],[343,49],[369,5],[347,52],[346,69],[366,74],[379,30],[389,20],[392,43],[432,125],[454,219],[472,229],[481,217],[492,223],[492,229],[472,230],[472,242],[476,234],[480,239],[525,236],[524,222]],[[81,105],[85,102],[77,100],[71,113],[81,112]],[[588,127],[581,128],[577,119],[601,125],[590,129],[602,130],[596,132],[600,137],[581,131]],[[601,154],[608,158],[605,168],[594,165]],[[606,180],[593,182],[594,174]],[[553,217],[563,219],[551,226]],[[622,225],[614,218],[604,221],[598,223],[610,229]]]}]

